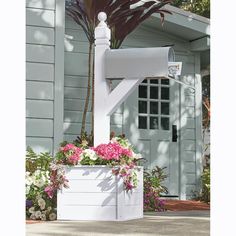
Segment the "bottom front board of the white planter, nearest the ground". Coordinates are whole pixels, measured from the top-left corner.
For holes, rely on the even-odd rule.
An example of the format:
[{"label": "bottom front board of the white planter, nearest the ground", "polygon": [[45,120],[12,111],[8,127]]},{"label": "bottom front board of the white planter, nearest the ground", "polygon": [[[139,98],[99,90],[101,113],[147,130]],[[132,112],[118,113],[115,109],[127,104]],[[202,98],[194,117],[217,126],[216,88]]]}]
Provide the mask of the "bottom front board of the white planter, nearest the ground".
[{"label": "bottom front board of the white planter, nearest the ground", "polygon": [[116,206],[63,206],[59,220],[116,220]]}]

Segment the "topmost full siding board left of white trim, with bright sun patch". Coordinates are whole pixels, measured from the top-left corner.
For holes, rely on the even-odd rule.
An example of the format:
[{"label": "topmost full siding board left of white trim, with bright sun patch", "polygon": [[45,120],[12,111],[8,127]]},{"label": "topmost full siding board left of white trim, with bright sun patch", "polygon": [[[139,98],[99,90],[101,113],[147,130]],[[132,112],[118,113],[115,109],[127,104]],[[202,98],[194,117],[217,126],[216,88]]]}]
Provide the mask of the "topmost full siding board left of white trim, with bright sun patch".
[{"label": "topmost full siding board left of white trim, with bright sun patch", "polygon": [[26,25],[54,27],[54,10],[26,8]]}]

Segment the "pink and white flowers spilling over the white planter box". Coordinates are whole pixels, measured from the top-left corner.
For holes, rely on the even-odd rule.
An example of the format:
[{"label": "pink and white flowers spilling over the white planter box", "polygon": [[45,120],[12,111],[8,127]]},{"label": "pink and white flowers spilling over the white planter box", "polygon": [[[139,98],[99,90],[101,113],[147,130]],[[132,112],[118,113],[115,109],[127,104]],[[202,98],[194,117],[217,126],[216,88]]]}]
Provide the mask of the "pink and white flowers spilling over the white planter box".
[{"label": "pink and white flowers spilling over the white planter box", "polygon": [[58,189],[69,187],[64,167],[75,165],[108,165],[112,173],[123,178],[124,189],[129,191],[137,187],[137,162],[140,154],[134,152],[132,145],[124,137],[114,137],[108,144],[96,147],[79,147],[64,142],[50,165],[50,183],[45,188],[48,198],[53,198]]}]

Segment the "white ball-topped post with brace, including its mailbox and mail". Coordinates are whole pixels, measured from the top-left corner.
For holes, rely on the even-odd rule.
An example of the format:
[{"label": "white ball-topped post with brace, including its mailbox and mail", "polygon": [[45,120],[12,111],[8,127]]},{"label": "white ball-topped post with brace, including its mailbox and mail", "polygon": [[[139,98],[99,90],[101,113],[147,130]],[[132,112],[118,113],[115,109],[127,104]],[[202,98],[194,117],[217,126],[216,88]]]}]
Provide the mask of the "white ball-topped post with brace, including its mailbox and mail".
[{"label": "white ball-topped post with brace, including its mailbox and mail", "polygon": [[[170,78],[170,68],[180,74],[170,47],[110,49],[111,31],[104,12],[95,28],[94,145],[110,140],[110,115],[145,78]],[[108,79],[122,79],[110,91]]]}]

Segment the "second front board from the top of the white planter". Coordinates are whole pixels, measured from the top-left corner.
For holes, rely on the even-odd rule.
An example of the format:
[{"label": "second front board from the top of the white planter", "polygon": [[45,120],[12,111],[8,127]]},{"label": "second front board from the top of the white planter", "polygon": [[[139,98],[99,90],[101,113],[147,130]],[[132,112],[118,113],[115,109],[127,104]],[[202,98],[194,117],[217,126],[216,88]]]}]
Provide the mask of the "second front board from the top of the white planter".
[{"label": "second front board from the top of the white planter", "polygon": [[79,180],[69,179],[69,188],[64,189],[64,193],[100,193],[100,192],[116,192],[116,183],[109,179],[104,180]]}]

